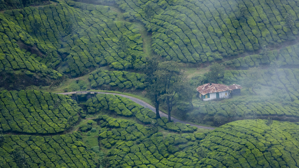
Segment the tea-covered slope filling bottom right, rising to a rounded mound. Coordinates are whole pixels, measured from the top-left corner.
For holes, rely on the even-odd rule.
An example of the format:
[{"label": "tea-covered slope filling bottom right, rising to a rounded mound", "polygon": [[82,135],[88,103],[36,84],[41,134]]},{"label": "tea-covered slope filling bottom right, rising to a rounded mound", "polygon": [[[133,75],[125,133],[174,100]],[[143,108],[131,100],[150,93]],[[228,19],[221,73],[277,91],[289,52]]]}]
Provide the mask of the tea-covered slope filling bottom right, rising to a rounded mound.
[{"label": "tea-covered slope filling bottom right, rising to a rounded mound", "polygon": [[[242,120],[207,133],[167,135],[102,116],[111,167],[298,167],[298,123]],[[115,124],[118,123],[118,124]]]}]

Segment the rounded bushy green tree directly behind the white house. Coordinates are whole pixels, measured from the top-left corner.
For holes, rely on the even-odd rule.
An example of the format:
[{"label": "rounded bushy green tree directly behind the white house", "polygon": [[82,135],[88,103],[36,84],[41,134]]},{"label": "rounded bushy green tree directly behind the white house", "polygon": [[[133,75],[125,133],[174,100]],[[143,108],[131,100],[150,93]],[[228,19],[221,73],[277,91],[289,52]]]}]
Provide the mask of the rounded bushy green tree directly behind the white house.
[{"label": "rounded bushy green tree directly behind the white house", "polygon": [[224,65],[213,62],[212,65],[209,66],[209,69],[210,71],[208,72],[208,74],[206,74],[208,82],[217,83],[220,78],[224,77]]}]

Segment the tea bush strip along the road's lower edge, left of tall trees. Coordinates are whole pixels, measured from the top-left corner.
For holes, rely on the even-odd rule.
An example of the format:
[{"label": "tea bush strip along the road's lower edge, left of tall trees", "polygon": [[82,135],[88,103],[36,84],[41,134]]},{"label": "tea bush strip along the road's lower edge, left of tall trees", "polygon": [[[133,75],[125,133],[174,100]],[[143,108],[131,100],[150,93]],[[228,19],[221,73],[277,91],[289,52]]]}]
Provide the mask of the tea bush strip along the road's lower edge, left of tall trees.
[{"label": "tea bush strip along the road's lower edge, left of tall trees", "polygon": [[97,94],[86,101],[87,112],[96,113],[100,110],[111,110],[119,115],[135,116],[144,123],[156,123],[156,114],[143,106],[133,102],[129,98],[113,94]]}]

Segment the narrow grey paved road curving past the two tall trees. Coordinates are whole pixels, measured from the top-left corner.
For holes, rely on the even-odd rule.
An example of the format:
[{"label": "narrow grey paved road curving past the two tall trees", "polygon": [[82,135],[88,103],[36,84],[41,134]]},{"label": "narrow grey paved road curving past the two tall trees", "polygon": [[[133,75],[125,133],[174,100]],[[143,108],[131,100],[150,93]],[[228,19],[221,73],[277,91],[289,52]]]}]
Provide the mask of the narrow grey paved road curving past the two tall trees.
[{"label": "narrow grey paved road curving past the two tall trees", "polygon": [[[84,92],[84,91],[82,91]],[[122,96],[122,97],[126,97],[126,98],[129,98],[131,99],[132,101],[134,101],[135,103],[138,103],[140,104],[141,106],[144,106],[145,108],[149,108],[150,110],[152,110],[153,112],[156,112],[156,109],[155,107],[149,105],[148,103],[140,100],[140,99],[137,99],[135,97],[132,97],[132,96],[127,96],[127,95],[124,95],[124,94],[118,94],[118,93],[108,93],[108,92],[99,92],[99,91],[86,91],[86,93],[89,92],[90,94],[94,94],[94,93],[103,93],[103,94],[113,94],[113,95],[119,95],[119,96]],[[64,94],[64,95],[68,95],[68,94],[76,94],[76,91],[72,91],[72,92],[63,92],[63,93],[57,93],[57,94]],[[159,111],[159,114],[161,117],[168,117],[167,114]],[[186,121],[182,121],[182,120],[179,120],[179,119],[176,119],[174,117],[171,117],[171,120],[173,120],[173,122],[180,122],[180,123],[184,123],[184,124],[190,124],[191,126],[196,126],[197,128],[203,128],[203,129],[215,129],[213,127],[208,127],[208,126],[200,126],[200,125],[196,125],[196,124],[193,124],[193,123],[189,123],[189,122],[186,122]]]}]

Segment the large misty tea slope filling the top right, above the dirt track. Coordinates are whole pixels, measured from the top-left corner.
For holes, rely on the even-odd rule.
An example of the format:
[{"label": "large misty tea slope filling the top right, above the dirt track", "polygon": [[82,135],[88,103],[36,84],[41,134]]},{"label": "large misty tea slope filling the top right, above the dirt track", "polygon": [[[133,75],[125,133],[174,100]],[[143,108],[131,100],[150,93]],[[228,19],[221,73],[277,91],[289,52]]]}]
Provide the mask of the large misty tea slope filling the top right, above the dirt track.
[{"label": "large misty tea slope filling the top right, above the dirt track", "polygon": [[[299,12],[295,1],[116,2],[126,18],[146,24],[156,53],[183,62],[213,61],[258,50],[295,39],[299,33],[299,24],[293,21]],[[152,14],[146,12],[148,6]]]}]

